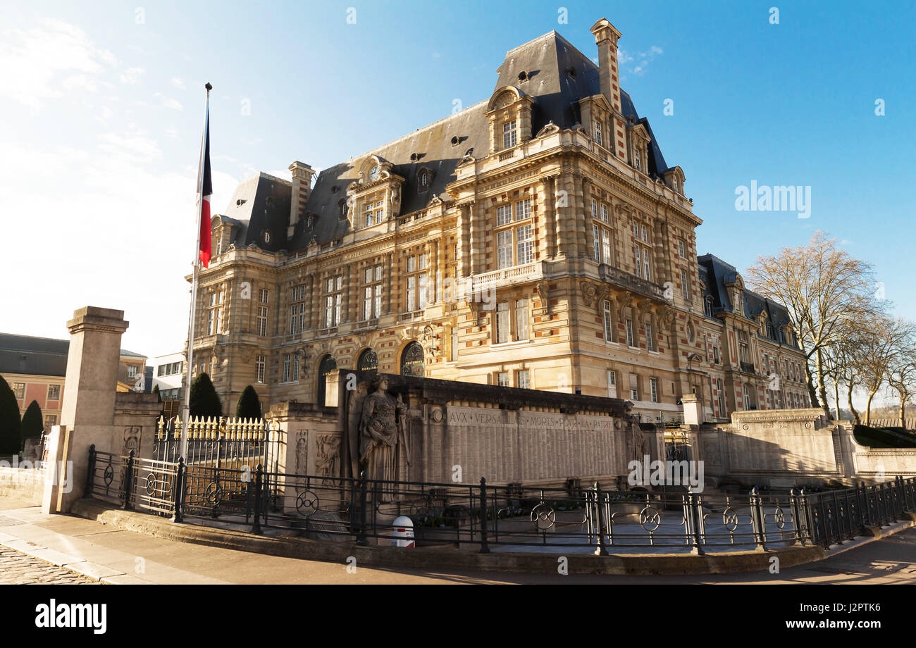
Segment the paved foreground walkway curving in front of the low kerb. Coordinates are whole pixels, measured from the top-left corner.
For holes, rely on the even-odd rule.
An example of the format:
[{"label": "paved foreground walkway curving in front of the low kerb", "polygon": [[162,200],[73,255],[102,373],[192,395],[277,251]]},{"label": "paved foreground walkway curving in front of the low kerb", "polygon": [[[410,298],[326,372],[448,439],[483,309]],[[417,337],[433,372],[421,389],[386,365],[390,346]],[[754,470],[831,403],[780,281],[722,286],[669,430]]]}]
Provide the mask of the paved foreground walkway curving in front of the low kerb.
[{"label": "paved foreground walkway curving in front of the low kerb", "polygon": [[[556,573],[445,573],[442,570],[358,566],[355,573],[348,573],[345,565],[181,543],[121,531],[70,515],[44,515],[37,507],[5,509],[5,503],[0,502],[0,545],[111,584],[916,584],[916,529],[844,547],[843,551],[834,550],[836,555],[826,560],[783,569],[781,574],[560,576]],[[29,567],[50,566],[45,563],[35,567],[30,563]]]}]

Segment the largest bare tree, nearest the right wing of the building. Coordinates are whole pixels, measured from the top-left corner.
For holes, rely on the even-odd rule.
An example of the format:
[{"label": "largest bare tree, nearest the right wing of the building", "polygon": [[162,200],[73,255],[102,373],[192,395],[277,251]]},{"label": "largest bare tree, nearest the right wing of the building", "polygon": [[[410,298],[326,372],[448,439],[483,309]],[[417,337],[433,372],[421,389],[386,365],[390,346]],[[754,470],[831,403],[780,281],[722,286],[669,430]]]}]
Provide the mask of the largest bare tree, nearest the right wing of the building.
[{"label": "largest bare tree, nearest the right wing of the building", "polygon": [[856,321],[885,308],[874,294],[872,266],[838,248],[826,232],[814,232],[804,245],[759,256],[757,265],[747,268],[747,283],[788,308],[808,361],[805,376],[812,403],[830,416],[826,350],[844,340]]}]

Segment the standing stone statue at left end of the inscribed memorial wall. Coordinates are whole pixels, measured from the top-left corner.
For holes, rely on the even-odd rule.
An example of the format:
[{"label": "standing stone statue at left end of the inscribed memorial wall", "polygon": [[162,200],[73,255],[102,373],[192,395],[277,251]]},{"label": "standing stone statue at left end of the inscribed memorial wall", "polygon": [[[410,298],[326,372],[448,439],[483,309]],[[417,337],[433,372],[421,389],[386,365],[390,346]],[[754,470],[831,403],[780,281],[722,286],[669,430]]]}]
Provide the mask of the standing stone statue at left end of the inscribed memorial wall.
[{"label": "standing stone statue at left end of the inscribed memorial wall", "polygon": [[[388,381],[383,376],[372,379],[372,393],[363,401],[363,416],[359,422],[359,465],[369,480],[396,481],[398,440],[407,447],[407,405],[398,394],[397,400],[387,393]],[[389,498],[382,497],[383,500]]]}]

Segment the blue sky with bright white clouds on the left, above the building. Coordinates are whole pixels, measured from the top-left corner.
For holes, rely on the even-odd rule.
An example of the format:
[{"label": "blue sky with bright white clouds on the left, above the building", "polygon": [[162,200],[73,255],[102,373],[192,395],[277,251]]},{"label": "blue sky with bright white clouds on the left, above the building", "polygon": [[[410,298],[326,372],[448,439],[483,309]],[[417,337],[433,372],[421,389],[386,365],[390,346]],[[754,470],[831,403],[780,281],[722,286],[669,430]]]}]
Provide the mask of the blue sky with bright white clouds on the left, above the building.
[{"label": "blue sky with bright white clouds on the left, above the building", "polygon": [[[487,99],[506,51],[551,29],[596,57],[588,29],[602,16],[623,33],[623,88],[686,174],[700,254],[743,270],[825,230],[916,318],[912,2],[785,3],[778,25],[772,0],[138,2],[0,7],[16,305],[0,330],[65,337],[72,310],[93,304],[125,309],[125,347],[180,349],[205,81],[222,211],[257,170],[328,167]],[[810,186],[811,217],[736,211],[736,187],[754,180]]]}]

